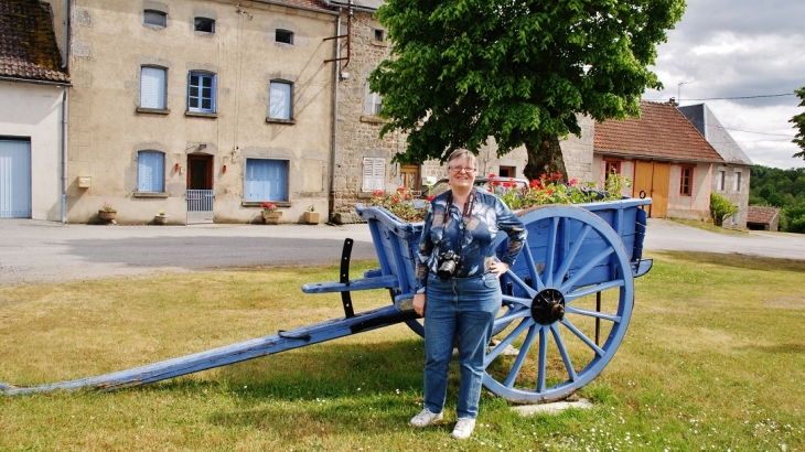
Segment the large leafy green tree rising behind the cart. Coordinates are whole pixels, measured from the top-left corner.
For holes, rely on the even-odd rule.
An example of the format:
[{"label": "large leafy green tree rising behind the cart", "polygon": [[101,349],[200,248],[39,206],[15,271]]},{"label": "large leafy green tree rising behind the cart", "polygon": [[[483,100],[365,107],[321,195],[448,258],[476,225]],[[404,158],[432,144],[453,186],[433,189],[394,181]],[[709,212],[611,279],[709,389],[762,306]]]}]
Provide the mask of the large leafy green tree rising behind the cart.
[{"label": "large leafy green tree rising behind the cart", "polygon": [[640,115],[646,66],[684,0],[388,0],[377,12],[394,43],[372,73],[383,96],[380,133],[408,133],[401,163],[525,144],[525,174],[566,174],[559,137]]}]

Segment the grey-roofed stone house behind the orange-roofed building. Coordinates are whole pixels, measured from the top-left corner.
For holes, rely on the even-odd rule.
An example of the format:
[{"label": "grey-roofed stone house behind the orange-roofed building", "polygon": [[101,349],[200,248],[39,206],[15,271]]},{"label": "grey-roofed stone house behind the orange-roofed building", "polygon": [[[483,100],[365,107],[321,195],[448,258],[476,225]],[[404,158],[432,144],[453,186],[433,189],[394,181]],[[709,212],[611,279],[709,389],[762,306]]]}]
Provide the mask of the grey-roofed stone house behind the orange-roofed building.
[{"label": "grey-roofed stone house behind the orange-roofed building", "polygon": [[749,181],[753,163],[705,104],[677,107],[723,159],[713,170],[712,193],[729,200],[738,213],[723,219],[723,227],[745,229],[749,213]]}]

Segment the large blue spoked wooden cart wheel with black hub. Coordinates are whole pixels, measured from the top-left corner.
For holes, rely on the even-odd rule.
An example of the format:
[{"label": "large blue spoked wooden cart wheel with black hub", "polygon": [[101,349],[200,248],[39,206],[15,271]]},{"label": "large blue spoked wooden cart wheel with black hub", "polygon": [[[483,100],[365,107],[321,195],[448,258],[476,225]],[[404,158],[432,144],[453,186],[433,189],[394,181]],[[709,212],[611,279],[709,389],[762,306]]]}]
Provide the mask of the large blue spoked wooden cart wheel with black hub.
[{"label": "large blue spoked wooden cart wheel with black hub", "polygon": [[548,205],[518,216],[527,246],[504,277],[509,308],[495,320],[483,383],[514,402],[564,399],[595,378],[623,340],[634,301],[629,255],[612,227],[583,208]]}]

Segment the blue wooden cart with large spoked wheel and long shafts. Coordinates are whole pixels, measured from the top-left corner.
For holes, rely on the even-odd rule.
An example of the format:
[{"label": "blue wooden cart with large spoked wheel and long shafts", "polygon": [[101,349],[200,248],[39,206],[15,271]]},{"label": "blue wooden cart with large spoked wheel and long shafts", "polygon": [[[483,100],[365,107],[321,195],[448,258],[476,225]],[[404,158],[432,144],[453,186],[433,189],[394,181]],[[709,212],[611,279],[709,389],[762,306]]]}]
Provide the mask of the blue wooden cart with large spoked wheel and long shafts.
[{"label": "blue wooden cart with large spoked wheel and long shafts", "polygon": [[[503,306],[485,359],[484,386],[514,402],[566,398],[612,359],[634,302],[650,198],[548,205],[518,213],[528,244],[503,277]],[[350,278],[353,240],[346,239],[340,280],[302,286],[305,293],[340,292],[344,316],[211,351],[96,377],[22,387],[0,383],[7,395],[144,385],[405,322],[422,334],[411,308],[414,257],[421,224],[400,222],[380,207],[356,207],[368,224],[379,269]],[[507,237],[498,237],[498,249]],[[351,292],[380,289],[391,303],[355,313]],[[387,295],[384,295],[385,299]]]}]

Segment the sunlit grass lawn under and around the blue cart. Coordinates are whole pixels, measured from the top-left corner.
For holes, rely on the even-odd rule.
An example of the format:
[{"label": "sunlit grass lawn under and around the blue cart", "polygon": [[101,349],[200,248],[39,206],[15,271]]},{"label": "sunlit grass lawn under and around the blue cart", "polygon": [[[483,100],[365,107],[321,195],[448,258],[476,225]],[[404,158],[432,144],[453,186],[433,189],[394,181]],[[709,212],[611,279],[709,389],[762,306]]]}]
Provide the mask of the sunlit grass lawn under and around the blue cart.
[{"label": "sunlit grass lawn under and around the blue cart", "polygon": [[[116,392],[0,396],[0,451],[805,450],[805,261],[652,257],[624,343],[578,395],[590,410],[523,418],[484,392],[476,432],[452,441],[453,368],[446,422],[415,430],[422,342],[396,325]],[[332,280],[335,267],[0,287],[0,381],[98,375],[334,319],[339,295],[299,289]]]}]

